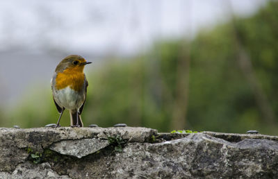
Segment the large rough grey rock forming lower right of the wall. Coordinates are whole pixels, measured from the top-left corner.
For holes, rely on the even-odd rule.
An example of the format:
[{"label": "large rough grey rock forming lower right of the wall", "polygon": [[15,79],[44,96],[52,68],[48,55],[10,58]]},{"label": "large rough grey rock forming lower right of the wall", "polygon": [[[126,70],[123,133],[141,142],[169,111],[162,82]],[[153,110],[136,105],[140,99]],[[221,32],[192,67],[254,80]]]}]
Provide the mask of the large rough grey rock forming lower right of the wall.
[{"label": "large rough grey rock forming lower right of the wall", "polygon": [[122,153],[91,156],[66,166],[73,178],[84,178],[84,173],[90,178],[277,178],[278,143],[231,143],[197,133],[157,144],[127,144]]}]

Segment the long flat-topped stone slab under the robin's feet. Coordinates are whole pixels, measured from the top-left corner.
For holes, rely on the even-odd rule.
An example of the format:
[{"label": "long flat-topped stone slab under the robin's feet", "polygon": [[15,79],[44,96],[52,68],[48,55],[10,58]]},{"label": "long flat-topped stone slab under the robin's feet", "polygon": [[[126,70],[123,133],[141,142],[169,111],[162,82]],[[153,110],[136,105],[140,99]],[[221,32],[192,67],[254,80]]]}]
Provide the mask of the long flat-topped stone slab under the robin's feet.
[{"label": "long flat-topped stone slab under the robin's feet", "polygon": [[[150,128],[0,128],[0,171],[12,171],[30,152],[43,153],[51,144],[71,139],[108,139],[120,135],[131,142],[145,142],[156,135]],[[27,151],[29,153],[27,153]]]}]

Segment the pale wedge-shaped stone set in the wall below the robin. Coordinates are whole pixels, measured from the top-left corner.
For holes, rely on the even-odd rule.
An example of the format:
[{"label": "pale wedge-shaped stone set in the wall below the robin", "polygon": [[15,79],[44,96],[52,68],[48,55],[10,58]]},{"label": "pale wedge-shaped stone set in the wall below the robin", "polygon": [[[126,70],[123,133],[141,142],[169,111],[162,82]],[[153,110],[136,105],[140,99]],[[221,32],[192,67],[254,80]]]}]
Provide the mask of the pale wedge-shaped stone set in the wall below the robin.
[{"label": "pale wedge-shaped stone set in the wall below the robin", "polygon": [[52,144],[50,149],[63,155],[72,155],[81,158],[85,155],[95,153],[108,145],[108,140],[104,139],[63,140]]}]

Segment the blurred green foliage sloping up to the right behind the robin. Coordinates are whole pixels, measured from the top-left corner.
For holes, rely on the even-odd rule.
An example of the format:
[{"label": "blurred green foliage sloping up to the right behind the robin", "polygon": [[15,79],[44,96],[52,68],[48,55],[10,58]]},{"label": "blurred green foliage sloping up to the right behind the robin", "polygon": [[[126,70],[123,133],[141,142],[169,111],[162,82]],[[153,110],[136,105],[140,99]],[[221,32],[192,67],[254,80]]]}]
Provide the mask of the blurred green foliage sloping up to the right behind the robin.
[{"label": "blurred green foliage sloping up to the right behind the robin", "polygon": [[[278,3],[270,1],[252,17],[202,31],[193,41],[163,40],[148,53],[133,58],[106,59],[94,68],[88,99],[82,114],[85,126],[128,126],[157,128],[161,132],[190,128],[226,133],[259,130],[278,135]],[[236,40],[235,40],[236,39]],[[265,119],[246,73],[238,65],[238,42],[252,62],[256,83],[261,87],[275,121]],[[188,51],[188,105],[186,126],[171,128],[174,116],[182,54]],[[181,107],[183,108],[183,107]],[[58,112],[50,87],[27,95],[9,120],[1,126],[38,127],[56,123]],[[70,125],[65,112],[63,126]]]}]

